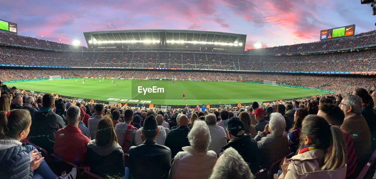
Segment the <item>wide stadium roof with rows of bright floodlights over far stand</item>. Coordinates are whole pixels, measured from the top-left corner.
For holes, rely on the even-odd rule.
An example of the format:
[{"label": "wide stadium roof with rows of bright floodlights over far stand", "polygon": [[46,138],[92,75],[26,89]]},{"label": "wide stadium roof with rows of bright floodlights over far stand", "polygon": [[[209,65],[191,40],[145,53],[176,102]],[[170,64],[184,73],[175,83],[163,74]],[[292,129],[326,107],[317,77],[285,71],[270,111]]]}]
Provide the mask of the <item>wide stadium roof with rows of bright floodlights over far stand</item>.
[{"label": "wide stadium roof with rows of bright floodlights over far stand", "polygon": [[199,45],[200,47],[231,47],[243,49],[244,34],[200,30],[109,30],[84,32],[88,47],[114,47],[126,44]]}]

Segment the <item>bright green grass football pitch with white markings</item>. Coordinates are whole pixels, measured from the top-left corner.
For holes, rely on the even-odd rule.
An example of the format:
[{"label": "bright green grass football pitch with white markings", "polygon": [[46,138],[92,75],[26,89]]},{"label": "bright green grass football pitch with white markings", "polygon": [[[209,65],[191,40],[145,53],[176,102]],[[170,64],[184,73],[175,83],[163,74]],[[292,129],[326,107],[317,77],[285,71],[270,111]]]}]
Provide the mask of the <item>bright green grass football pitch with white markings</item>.
[{"label": "bright green grass football pitch with white markings", "polygon": [[[5,83],[8,87],[15,86],[19,89],[32,90],[36,92],[53,93],[77,98],[86,98],[102,101],[119,102],[127,99],[128,103],[141,104],[141,101],[151,101],[153,104],[168,105],[202,105],[202,104],[236,104],[238,102],[263,102],[279,99],[290,99],[311,95],[322,95],[324,92],[317,92],[308,89],[297,89],[291,87],[271,86],[244,82],[222,82],[222,81],[164,81],[164,80],[116,80],[111,84],[111,79],[103,82],[92,78],[67,80],[44,80]],[[164,93],[138,93],[138,86],[164,88]],[[180,99],[185,91],[185,101]],[[113,99],[110,99],[113,98]],[[116,101],[119,99],[119,101]],[[132,102],[129,100],[139,100]],[[121,102],[121,101],[120,101]],[[123,102],[124,103],[124,100]],[[146,102],[149,104],[149,102]]]}]

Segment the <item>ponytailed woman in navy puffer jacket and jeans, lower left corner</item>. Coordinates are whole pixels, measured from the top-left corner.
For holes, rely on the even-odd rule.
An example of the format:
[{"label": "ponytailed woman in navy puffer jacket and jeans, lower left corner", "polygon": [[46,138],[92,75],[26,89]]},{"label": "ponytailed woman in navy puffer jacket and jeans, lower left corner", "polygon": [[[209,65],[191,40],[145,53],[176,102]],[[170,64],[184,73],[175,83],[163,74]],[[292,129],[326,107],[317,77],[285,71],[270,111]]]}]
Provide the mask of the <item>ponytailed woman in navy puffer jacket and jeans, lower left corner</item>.
[{"label": "ponytailed woman in navy puffer jacket and jeans, lower left corner", "polygon": [[[21,143],[30,132],[29,111],[0,111],[0,121],[0,178],[57,178],[35,147]],[[75,178],[72,174],[59,178]]]}]

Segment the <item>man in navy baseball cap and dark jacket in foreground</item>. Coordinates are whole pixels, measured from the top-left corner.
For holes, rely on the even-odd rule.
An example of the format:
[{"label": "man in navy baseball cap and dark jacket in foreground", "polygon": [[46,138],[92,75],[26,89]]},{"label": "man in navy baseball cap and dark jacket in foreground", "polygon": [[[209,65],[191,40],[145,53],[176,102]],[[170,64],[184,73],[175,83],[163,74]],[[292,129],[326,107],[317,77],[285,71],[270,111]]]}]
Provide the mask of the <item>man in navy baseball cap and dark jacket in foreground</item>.
[{"label": "man in navy baseball cap and dark jacket in foreground", "polygon": [[257,141],[251,135],[245,134],[244,123],[238,117],[225,120],[224,127],[227,129],[230,141],[222,147],[221,153],[229,147],[237,150],[255,174],[260,169],[261,162]]}]

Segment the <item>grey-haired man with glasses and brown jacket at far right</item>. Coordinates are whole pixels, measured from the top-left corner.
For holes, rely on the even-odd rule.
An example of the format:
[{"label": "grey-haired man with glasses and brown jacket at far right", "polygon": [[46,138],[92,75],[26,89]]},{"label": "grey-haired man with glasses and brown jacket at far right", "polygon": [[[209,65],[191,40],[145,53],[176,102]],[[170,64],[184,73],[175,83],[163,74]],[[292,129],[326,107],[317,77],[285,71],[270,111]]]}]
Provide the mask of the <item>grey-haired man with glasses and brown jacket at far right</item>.
[{"label": "grey-haired man with glasses and brown jacket at far right", "polygon": [[341,129],[350,135],[354,142],[357,162],[359,166],[368,161],[371,152],[371,132],[367,121],[362,116],[362,99],[355,95],[346,95],[340,104],[345,114]]}]

